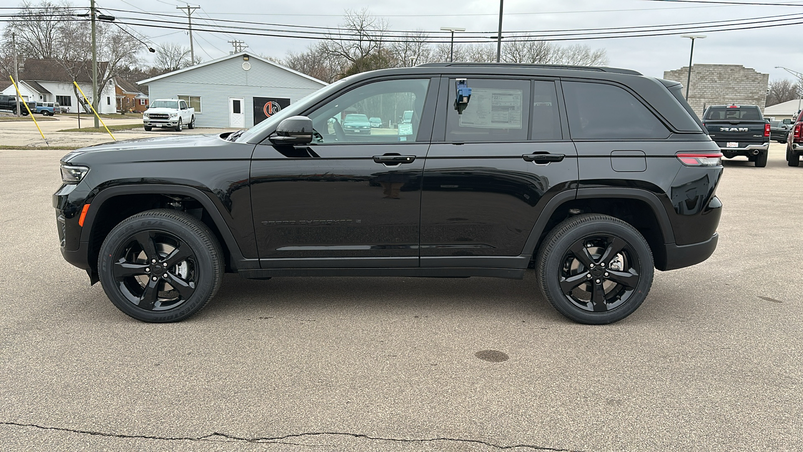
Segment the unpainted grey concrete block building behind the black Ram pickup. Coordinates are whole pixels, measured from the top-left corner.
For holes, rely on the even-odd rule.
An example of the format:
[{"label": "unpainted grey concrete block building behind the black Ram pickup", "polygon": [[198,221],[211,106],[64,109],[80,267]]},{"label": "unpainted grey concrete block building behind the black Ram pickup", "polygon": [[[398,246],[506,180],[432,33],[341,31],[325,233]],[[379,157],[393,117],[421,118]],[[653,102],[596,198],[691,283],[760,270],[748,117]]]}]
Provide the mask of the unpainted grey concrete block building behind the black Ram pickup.
[{"label": "unpainted grey concrete block building behind the black Ram pickup", "polygon": [[[663,78],[683,83],[689,75],[685,68],[666,71]],[[699,117],[708,105],[758,105],[764,110],[769,74],[756,72],[740,64],[695,64],[691,70],[689,105]]]}]

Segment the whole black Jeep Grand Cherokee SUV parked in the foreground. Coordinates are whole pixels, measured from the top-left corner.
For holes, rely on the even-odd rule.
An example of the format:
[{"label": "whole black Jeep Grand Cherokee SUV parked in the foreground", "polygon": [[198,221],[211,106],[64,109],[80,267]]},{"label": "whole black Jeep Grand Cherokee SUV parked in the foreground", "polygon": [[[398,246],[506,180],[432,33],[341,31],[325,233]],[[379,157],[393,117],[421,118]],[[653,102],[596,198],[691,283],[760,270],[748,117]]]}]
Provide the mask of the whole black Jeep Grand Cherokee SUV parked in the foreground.
[{"label": "whole black Jeep Grand Cherokee SUV parked in the foreground", "polygon": [[[194,314],[224,272],[521,279],[532,267],[561,314],[616,322],[654,268],[716,247],[722,154],[680,91],[548,65],[349,76],[245,131],[67,154],[61,252],[145,322]],[[352,113],[383,126],[345,134]]]}]

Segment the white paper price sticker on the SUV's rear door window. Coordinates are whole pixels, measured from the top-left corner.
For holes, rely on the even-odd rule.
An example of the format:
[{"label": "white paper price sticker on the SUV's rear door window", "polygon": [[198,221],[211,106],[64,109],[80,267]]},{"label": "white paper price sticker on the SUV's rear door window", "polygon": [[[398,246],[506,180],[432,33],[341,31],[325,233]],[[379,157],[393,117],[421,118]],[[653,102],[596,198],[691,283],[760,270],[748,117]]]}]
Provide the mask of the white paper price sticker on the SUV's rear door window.
[{"label": "white paper price sticker on the SUV's rear door window", "polygon": [[460,115],[459,125],[482,129],[521,129],[523,98],[524,92],[520,89],[471,88],[471,103]]}]

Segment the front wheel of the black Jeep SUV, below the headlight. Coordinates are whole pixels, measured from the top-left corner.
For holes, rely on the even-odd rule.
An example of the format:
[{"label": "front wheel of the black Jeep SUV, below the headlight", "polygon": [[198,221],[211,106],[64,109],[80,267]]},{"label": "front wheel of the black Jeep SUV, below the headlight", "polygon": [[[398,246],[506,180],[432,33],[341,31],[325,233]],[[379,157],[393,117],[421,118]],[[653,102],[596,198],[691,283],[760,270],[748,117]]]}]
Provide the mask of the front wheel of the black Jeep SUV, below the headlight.
[{"label": "front wheel of the black Jeep SUV, below the headlight", "polygon": [[100,247],[98,274],[118,309],[143,322],[178,322],[218,291],[223,253],[194,216],[156,209],[130,216]]}]

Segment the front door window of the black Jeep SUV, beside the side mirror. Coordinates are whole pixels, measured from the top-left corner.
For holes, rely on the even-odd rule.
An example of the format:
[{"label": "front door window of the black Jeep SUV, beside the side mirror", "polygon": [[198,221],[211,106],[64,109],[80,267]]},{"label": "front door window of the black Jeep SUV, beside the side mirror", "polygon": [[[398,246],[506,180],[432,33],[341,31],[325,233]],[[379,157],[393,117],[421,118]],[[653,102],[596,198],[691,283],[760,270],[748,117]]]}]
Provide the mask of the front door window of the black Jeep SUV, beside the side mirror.
[{"label": "front door window of the black Jeep SUV, beside the side mirror", "polygon": [[[344,92],[307,115],[313,142],[415,142],[429,86],[429,79],[382,80]],[[369,117],[382,125],[372,128]]]}]

